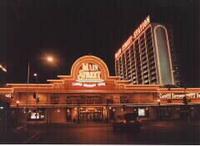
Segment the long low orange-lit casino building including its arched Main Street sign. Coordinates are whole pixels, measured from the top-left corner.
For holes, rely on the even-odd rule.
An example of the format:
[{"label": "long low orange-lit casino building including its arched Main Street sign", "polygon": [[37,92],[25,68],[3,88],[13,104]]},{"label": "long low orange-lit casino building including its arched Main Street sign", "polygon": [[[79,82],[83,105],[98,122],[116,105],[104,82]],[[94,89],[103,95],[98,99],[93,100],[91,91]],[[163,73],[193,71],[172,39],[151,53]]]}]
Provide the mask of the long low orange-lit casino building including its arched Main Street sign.
[{"label": "long low orange-lit casino building including its arched Main Street sign", "polygon": [[10,104],[12,121],[110,122],[126,112],[136,112],[143,120],[179,119],[184,109],[200,119],[199,88],[130,84],[110,76],[103,60],[91,55],[77,59],[70,75],[58,75],[48,82],[11,83],[0,88],[1,100]]}]

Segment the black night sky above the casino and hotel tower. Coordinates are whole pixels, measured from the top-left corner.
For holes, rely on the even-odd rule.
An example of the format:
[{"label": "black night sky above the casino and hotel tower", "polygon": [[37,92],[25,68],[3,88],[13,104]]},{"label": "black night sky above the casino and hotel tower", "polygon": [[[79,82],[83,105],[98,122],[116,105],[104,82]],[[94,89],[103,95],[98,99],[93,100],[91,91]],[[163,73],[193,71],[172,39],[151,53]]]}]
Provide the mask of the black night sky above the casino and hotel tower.
[{"label": "black night sky above the casino and hotel tower", "polygon": [[[69,74],[86,54],[101,57],[113,75],[114,53],[150,14],[173,32],[185,85],[199,86],[198,9],[195,0],[0,0],[0,62],[7,82],[26,82],[28,61],[40,82]],[[42,63],[44,53],[56,54],[58,65]]]}]

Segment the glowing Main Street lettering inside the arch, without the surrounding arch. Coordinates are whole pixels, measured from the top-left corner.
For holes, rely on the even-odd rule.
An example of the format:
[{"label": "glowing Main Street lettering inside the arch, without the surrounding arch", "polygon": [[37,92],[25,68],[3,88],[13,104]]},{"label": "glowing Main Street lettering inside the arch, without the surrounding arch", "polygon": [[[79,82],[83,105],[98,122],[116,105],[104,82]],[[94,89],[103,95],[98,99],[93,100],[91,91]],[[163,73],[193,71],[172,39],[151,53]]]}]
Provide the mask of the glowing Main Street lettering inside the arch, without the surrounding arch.
[{"label": "glowing Main Street lettering inside the arch, without the surrounding arch", "polygon": [[78,71],[76,82],[73,86],[96,87],[105,86],[99,65],[95,63],[82,63]]}]

